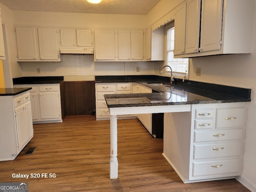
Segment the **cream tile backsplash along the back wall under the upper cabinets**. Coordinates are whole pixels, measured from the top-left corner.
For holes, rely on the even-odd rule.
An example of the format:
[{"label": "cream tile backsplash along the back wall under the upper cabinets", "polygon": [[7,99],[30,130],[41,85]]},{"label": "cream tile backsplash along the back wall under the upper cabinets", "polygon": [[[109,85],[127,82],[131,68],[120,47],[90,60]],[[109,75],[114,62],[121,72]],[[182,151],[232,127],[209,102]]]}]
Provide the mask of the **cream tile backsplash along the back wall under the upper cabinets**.
[{"label": "cream tile backsplash along the back wall under the upper cabinets", "polygon": [[[154,62],[94,62],[93,55],[62,55],[62,62],[19,62],[23,76],[150,75]],[[37,73],[40,68],[40,73]]]}]

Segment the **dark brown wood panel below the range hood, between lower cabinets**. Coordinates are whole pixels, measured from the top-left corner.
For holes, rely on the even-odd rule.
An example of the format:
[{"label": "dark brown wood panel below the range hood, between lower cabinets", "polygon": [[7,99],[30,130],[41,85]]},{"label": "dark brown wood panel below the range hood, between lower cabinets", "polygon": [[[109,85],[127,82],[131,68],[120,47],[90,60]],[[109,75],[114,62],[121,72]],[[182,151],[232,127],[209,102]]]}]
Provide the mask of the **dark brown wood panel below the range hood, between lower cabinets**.
[{"label": "dark brown wood panel below the range hood, between lower cabinets", "polygon": [[88,115],[96,109],[95,81],[64,82],[66,115]]}]

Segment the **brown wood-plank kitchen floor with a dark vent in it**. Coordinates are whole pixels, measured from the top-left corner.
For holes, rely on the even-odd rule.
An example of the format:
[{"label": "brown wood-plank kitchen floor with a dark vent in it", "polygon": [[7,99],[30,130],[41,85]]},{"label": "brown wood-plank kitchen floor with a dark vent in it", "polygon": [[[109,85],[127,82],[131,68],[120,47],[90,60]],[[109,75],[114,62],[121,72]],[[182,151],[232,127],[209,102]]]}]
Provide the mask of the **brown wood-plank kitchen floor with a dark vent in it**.
[{"label": "brown wood-plank kitchen floor with a dark vent in it", "polygon": [[[34,124],[34,137],[16,159],[0,162],[0,182],[28,182],[30,192],[250,192],[236,179],[184,184],[162,156],[163,140],[152,138],[137,119],[118,120],[119,172],[110,180],[109,132],[109,121],[90,115]],[[37,148],[24,155],[30,146]]]}]

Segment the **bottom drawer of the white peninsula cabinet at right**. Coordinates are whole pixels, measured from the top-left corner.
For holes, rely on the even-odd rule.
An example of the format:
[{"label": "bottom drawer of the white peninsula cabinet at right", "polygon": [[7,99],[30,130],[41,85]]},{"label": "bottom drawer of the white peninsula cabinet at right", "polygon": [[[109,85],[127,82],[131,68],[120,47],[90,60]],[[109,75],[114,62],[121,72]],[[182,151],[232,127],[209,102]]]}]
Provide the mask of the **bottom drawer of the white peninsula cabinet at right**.
[{"label": "bottom drawer of the white peninsula cabinet at right", "polygon": [[239,172],[240,159],[193,163],[193,176]]}]

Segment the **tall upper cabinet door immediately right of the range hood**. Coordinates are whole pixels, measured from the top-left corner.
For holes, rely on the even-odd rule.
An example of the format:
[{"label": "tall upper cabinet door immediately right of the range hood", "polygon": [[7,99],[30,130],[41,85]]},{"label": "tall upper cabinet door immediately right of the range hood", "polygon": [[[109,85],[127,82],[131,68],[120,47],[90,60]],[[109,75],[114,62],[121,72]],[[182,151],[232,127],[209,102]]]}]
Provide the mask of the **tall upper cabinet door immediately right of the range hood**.
[{"label": "tall upper cabinet door immediately right of the range hood", "polygon": [[95,30],[94,59],[115,60],[115,30]]}]

